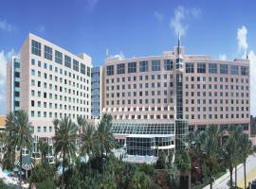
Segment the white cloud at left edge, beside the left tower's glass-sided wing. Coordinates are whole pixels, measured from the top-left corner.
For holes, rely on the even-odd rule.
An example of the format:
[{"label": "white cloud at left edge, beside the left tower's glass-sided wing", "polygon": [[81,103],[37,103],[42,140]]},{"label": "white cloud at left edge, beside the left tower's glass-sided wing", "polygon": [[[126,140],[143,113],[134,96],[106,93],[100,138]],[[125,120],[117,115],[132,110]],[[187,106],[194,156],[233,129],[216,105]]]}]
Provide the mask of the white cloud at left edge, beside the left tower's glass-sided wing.
[{"label": "white cloud at left edge, beside the left tower's glass-sided wing", "polygon": [[0,51],[0,114],[5,113],[6,104],[6,68],[7,62],[15,55],[15,51],[11,49],[9,52]]}]

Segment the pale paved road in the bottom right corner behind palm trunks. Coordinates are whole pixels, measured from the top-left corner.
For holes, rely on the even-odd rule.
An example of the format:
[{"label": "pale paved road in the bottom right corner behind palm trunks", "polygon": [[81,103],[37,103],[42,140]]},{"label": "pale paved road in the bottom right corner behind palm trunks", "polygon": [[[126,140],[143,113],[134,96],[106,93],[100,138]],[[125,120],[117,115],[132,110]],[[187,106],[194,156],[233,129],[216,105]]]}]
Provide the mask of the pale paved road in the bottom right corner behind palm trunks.
[{"label": "pale paved road in the bottom right corner behind palm trunks", "polygon": [[[233,180],[235,174],[233,173]],[[247,158],[247,183],[251,180],[256,179],[256,156],[249,156]],[[224,176],[215,180],[213,183],[213,189],[228,189],[229,181],[229,172],[227,172]],[[239,164],[237,168],[237,184],[239,187],[244,188],[244,166],[243,164]],[[210,189],[210,185],[204,187],[204,189]]]}]

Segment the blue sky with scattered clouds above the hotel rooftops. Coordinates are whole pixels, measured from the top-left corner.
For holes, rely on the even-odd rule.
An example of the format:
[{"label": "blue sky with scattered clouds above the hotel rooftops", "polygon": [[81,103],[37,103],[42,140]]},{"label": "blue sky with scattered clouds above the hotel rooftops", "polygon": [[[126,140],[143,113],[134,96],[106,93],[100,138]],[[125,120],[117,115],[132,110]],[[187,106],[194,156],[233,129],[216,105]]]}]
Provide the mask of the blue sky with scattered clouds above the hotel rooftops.
[{"label": "blue sky with scattered clouds above the hotel rooftops", "polygon": [[[0,103],[5,103],[6,60],[19,51],[28,32],[72,53],[85,52],[94,65],[104,62],[106,48],[110,55],[121,54],[125,58],[158,55],[173,49],[177,30],[182,33],[188,54],[233,60],[244,56],[248,47],[250,59],[256,61],[255,9],[254,1],[231,0],[3,0]],[[255,66],[252,69],[256,71]],[[255,89],[251,90],[252,101]],[[251,106],[251,112],[256,114],[256,102]],[[1,113],[5,113],[4,106],[0,106]]]}]

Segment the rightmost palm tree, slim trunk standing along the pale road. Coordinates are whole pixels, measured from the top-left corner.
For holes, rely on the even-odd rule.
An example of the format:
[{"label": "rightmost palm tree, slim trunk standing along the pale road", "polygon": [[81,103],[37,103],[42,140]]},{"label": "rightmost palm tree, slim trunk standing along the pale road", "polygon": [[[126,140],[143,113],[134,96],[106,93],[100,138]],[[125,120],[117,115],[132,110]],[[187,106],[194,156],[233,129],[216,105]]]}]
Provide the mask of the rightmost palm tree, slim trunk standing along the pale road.
[{"label": "rightmost palm tree, slim trunk standing along the pale road", "polygon": [[239,138],[241,160],[244,164],[245,188],[247,188],[247,157],[253,153],[251,141],[248,135],[243,133]]}]

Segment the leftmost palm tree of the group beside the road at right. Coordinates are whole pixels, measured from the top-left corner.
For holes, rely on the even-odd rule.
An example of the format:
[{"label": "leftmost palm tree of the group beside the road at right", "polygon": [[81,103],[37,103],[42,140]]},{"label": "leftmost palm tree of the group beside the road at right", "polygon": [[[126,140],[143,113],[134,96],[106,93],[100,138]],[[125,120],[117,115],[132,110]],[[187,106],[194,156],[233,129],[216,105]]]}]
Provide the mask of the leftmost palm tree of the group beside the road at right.
[{"label": "leftmost palm tree of the group beside the road at right", "polygon": [[220,133],[221,130],[218,127],[210,126],[199,134],[198,139],[200,142],[199,156],[210,169],[210,189],[212,189],[212,170],[217,164],[220,155],[220,143],[218,141]]}]

